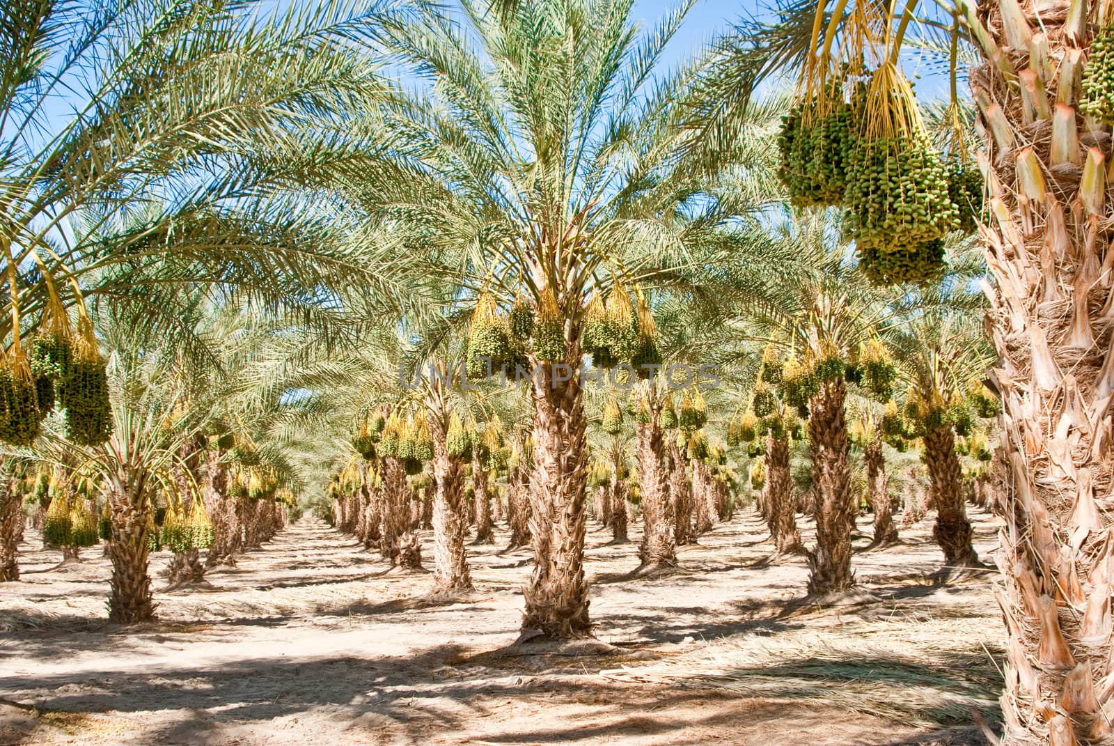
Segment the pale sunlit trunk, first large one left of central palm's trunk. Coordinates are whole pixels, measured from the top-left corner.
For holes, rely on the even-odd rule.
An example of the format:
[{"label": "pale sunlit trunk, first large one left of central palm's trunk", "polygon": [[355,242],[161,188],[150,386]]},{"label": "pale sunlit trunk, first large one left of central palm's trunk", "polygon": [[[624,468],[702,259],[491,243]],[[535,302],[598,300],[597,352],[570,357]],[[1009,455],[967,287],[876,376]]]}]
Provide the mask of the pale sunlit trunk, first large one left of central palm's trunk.
[{"label": "pale sunlit trunk, first large one left of central palm's trunk", "polygon": [[465,548],[465,462],[448,454],[448,415],[431,411],[433,435],[433,594],[455,595],[472,589]]}]

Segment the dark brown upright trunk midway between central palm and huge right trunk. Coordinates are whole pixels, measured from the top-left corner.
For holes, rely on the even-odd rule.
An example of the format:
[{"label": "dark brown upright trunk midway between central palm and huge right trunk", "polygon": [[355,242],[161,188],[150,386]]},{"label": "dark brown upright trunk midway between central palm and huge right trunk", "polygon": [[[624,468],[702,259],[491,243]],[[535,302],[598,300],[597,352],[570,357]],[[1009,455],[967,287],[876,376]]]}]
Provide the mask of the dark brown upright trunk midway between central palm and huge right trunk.
[{"label": "dark brown upright trunk midway between central palm and huge right trunk", "polygon": [[851,466],[843,415],[847,385],[825,382],[809,401],[817,545],[808,551],[809,593],[838,593],[854,584],[851,574]]}]

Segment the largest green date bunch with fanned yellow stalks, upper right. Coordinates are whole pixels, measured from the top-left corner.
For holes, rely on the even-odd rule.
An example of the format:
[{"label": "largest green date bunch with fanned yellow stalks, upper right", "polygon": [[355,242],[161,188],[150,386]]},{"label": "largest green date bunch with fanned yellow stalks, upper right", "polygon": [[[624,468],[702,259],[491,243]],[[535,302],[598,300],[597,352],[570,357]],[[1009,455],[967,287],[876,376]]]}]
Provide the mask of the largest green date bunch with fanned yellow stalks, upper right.
[{"label": "largest green date bunch with fanned yellow stalks, upper right", "polygon": [[948,174],[892,60],[874,70],[863,96],[847,163],[847,230],[872,281],[922,282],[944,270],[940,240],[959,225]]}]

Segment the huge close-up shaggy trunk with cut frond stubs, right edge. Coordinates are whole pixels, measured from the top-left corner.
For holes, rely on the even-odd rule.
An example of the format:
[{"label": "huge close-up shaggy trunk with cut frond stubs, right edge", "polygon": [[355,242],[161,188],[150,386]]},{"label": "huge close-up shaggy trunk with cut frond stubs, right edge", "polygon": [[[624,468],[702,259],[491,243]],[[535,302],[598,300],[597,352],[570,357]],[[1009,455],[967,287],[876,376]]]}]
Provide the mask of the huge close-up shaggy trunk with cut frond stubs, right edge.
[{"label": "huge close-up shaggy trunk with cut frond stubs, right edge", "polygon": [[[1106,744],[1114,564],[1095,497],[1111,495],[1114,475],[1111,152],[1108,127],[1083,117],[1078,96],[1085,64],[1108,90],[1091,47],[1108,21],[1097,3],[1048,13],[1000,0],[979,11],[986,61],[968,78],[978,124],[994,134],[979,154],[990,215],[979,233],[1009,466],[995,555],[1007,631],[1003,742]],[[1026,163],[1035,168],[1022,184]]]}]

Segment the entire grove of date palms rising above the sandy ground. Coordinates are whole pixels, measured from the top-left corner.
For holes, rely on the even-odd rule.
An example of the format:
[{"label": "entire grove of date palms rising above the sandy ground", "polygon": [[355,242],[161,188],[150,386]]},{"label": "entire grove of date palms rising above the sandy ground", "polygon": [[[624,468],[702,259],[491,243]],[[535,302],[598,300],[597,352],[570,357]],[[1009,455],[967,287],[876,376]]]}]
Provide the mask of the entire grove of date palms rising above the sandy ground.
[{"label": "entire grove of date palms rising above the sandy ground", "polygon": [[505,524],[524,638],[579,638],[589,515],[651,574],[758,510],[830,599],[912,453],[937,579],[1004,581],[1007,740],[1104,742],[1105,7],[797,3],[665,66],[692,4],[8,3],[0,579],[25,505],[125,623],[152,551],[311,506],[451,598]]}]

